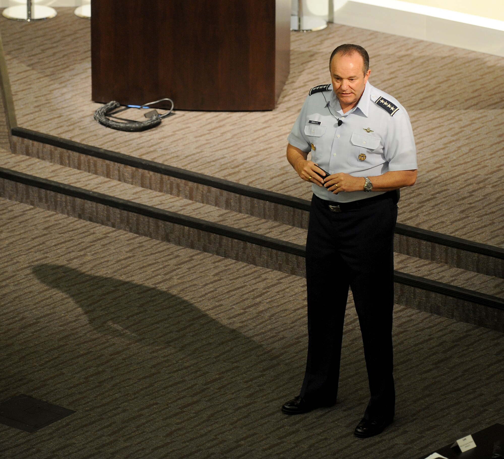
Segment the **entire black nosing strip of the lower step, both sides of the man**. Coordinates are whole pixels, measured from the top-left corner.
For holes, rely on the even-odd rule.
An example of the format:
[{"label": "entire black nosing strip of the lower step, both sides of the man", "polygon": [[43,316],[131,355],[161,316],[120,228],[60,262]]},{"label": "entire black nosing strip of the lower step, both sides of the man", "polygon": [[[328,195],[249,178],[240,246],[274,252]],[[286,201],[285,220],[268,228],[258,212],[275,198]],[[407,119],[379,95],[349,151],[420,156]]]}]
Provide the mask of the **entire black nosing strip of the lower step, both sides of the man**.
[{"label": "entire black nosing strip of the lower step, both sides of the man", "polygon": [[[28,186],[41,188],[59,194],[96,202],[120,210],[145,215],[147,217],[200,229],[201,231],[206,231],[231,239],[267,247],[299,257],[305,256],[305,247],[298,244],[281,241],[267,236],[258,236],[254,233],[244,231],[242,229],[232,228],[230,226],[225,226],[219,223],[208,222],[200,218],[189,217],[186,215],[177,214],[175,212],[170,212],[168,210],[157,209],[145,204],[139,204],[125,199],[96,193],[94,191],[85,190],[83,188],[74,187],[72,185],[61,184],[52,180],[30,176],[28,174],[23,174],[21,172],[6,169],[4,167],[0,167],[0,178],[13,182],[19,182]],[[425,279],[423,277],[418,277],[399,271],[394,271],[394,281],[412,286],[417,289],[438,293],[452,298],[461,299],[470,303],[476,303],[504,311],[504,300],[501,298],[474,292],[468,289],[463,289],[461,287],[447,283]]]}]

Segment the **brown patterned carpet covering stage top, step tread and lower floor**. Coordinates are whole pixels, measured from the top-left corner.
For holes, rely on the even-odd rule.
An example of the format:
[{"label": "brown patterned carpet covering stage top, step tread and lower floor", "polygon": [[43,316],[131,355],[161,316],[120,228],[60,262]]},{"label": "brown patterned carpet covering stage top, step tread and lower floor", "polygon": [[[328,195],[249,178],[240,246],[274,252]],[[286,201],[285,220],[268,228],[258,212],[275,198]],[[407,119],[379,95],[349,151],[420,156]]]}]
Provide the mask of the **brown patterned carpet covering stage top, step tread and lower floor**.
[{"label": "brown patterned carpet covering stage top, step tread and lower floor", "polygon": [[[308,199],[286,137],[307,90],[329,82],[331,50],[357,42],[416,135],[419,180],[399,221],[504,246],[504,59],[332,24],[292,34],[275,110],[177,111],[129,134],[93,121],[89,28],[70,8],[32,24],[0,17],[20,126]],[[4,167],[302,244],[296,228],[12,155],[4,134]],[[396,419],[358,439],[368,388],[351,296],[338,404],[288,417],[306,356],[304,279],[2,198],[0,246],[0,401],[24,393],[76,411],[31,434],[0,424],[0,457],[415,459],[504,424],[497,331],[396,305]],[[403,255],[396,267],[504,295],[502,279]]]}]

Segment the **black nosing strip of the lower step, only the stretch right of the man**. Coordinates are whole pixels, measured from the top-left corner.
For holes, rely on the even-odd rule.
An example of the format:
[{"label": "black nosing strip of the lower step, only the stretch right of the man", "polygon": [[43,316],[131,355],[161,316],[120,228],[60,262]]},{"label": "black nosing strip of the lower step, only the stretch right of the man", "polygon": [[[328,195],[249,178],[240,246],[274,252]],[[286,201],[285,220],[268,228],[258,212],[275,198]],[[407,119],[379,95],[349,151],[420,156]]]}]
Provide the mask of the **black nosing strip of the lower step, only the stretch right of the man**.
[{"label": "black nosing strip of the lower step, only the stretch right of the man", "polygon": [[502,298],[464,289],[462,287],[439,282],[437,280],[426,279],[413,274],[394,271],[394,282],[409,285],[415,289],[426,290],[447,297],[464,300],[469,303],[476,303],[481,306],[504,311],[504,299]]}]

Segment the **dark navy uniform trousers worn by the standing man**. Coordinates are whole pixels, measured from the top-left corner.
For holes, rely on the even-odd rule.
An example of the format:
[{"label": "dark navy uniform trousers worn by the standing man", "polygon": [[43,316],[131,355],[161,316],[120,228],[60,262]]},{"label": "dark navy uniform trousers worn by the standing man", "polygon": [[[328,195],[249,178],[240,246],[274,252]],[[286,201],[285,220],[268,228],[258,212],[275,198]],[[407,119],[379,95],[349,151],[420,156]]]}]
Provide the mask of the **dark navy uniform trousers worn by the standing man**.
[{"label": "dark navy uniform trousers worn by the standing man", "polygon": [[349,287],[359,318],[370,390],[364,418],[394,416],[394,192],[342,204],[313,195],[306,240],[308,356],[300,395],[332,404],[338,393]]}]

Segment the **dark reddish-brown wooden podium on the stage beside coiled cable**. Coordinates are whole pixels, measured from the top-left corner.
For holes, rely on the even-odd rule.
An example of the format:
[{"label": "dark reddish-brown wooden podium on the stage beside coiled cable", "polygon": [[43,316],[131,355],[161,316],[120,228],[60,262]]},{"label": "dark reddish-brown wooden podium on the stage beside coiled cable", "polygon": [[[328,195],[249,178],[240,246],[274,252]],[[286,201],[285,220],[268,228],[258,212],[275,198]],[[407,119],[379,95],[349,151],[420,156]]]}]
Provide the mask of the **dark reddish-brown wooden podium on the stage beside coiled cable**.
[{"label": "dark reddish-brown wooden podium on the stage beside coiled cable", "polygon": [[92,0],[96,102],[272,110],[289,74],[291,0]]}]

